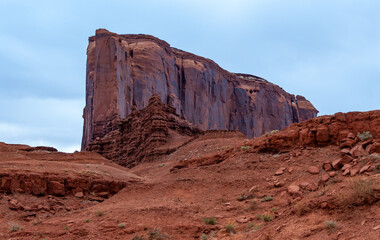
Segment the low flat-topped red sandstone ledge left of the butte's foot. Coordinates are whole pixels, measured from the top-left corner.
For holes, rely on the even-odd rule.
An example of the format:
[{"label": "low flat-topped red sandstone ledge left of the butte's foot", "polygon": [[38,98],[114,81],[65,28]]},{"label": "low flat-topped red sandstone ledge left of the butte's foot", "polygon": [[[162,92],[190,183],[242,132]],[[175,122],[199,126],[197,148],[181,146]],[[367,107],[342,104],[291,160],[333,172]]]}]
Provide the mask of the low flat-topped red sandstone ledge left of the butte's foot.
[{"label": "low flat-topped red sandstone ledge left of the butte's foot", "polygon": [[[113,172],[109,176],[109,172]],[[139,177],[94,152],[0,142],[0,193],[108,197]]]}]

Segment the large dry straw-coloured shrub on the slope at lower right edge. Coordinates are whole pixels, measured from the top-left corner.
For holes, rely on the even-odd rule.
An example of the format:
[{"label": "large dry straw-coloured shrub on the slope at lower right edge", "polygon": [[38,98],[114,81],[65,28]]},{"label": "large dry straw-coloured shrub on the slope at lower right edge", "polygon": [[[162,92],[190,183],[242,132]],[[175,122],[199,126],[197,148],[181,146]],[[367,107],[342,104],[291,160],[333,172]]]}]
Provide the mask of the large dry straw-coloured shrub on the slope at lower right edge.
[{"label": "large dry straw-coloured shrub on the slope at lower right edge", "polygon": [[349,182],[347,189],[342,190],[338,196],[340,206],[352,208],[372,203],[373,181],[370,179],[357,178]]}]

